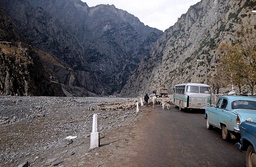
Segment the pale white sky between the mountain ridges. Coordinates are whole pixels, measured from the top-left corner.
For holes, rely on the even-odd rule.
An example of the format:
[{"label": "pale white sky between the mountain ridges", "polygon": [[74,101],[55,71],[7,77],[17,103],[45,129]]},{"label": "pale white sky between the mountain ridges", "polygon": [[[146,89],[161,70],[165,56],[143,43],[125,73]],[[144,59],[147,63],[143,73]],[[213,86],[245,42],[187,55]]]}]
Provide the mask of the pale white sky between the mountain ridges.
[{"label": "pale white sky between the mountain ridges", "polygon": [[98,4],[115,5],[139,18],[142,23],[159,30],[174,25],[191,5],[201,0],[82,0],[89,7]]}]

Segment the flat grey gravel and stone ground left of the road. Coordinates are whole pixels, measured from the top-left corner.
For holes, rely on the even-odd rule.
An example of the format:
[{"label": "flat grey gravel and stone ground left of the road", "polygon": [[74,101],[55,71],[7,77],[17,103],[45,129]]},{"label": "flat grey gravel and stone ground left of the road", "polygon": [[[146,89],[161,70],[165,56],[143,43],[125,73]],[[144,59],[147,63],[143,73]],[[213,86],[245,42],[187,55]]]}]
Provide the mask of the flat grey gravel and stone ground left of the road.
[{"label": "flat grey gravel and stone ground left of the road", "polygon": [[[0,166],[23,163],[97,166],[108,162],[115,148],[104,148],[113,144],[117,149],[116,144],[129,138],[122,128],[140,119],[145,108],[140,107],[139,113],[136,108],[97,111],[97,104],[110,106],[127,101],[126,98],[0,96]],[[94,110],[90,111],[89,106]],[[90,133],[95,113],[98,114],[101,147],[91,151]],[[65,141],[67,136],[77,138],[68,142]],[[104,156],[94,161],[98,155]]]}]

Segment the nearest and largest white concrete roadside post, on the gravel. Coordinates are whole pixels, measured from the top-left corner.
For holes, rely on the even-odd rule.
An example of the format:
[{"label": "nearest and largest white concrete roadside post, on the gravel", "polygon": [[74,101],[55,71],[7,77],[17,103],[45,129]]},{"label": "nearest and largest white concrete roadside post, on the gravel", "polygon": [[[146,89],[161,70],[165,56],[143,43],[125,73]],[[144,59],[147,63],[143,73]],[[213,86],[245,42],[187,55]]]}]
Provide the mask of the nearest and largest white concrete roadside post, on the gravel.
[{"label": "nearest and largest white concrete roadside post, on the gravel", "polygon": [[98,132],[98,115],[93,114],[90,149],[95,149],[99,146],[100,146],[100,133]]}]

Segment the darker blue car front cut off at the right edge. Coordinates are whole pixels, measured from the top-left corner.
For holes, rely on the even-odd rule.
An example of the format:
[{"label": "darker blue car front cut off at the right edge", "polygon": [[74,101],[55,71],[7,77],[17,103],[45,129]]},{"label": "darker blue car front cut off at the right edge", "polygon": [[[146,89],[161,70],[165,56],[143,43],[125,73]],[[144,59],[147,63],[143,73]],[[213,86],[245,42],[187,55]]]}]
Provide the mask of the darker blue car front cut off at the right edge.
[{"label": "darker blue car front cut off at the right edge", "polygon": [[256,123],[250,121],[241,122],[239,125],[241,143],[236,143],[236,147],[246,151],[246,166],[256,167]]}]

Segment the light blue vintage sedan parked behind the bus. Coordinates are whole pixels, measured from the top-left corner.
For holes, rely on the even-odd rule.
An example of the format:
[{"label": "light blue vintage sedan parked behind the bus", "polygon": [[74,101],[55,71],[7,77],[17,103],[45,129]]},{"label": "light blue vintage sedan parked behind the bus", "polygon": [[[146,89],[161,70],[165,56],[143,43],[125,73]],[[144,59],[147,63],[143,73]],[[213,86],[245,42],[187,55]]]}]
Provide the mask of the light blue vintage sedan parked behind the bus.
[{"label": "light blue vintage sedan parked behind the bus", "polygon": [[220,96],[215,107],[205,109],[206,127],[222,129],[225,141],[236,139],[243,121],[256,122],[256,98],[246,96]]}]

